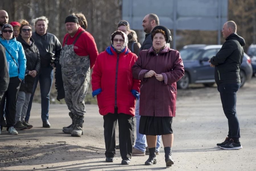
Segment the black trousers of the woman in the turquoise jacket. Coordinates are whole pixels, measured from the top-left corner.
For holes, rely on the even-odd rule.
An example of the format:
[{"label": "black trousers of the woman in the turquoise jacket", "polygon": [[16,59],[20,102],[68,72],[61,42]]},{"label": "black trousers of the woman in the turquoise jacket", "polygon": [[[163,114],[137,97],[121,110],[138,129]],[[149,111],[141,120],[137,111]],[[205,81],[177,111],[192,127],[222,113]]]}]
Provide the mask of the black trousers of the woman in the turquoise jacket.
[{"label": "black trousers of the woman in the turquoise jacket", "polygon": [[[20,80],[18,77],[10,78],[7,91],[4,93],[3,98],[0,102],[0,124],[3,122],[3,112],[5,106],[5,118],[7,123],[7,130],[9,127],[14,127],[15,125],[15,115],[16,115],[16,103],[18,92],[20,89]],[[5,105],[6,99],[6,105]]]}]

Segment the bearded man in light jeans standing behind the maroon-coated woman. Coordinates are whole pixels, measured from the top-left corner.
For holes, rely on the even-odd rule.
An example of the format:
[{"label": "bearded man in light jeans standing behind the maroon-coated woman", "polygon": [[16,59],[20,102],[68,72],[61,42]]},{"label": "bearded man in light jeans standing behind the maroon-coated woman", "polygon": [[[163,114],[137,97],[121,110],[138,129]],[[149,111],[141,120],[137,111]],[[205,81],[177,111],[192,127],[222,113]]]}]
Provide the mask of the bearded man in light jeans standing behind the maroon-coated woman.
[{"label": "bearded man in light jeans standing behind the maroon-coated woman", "polygon": [[[154,27],[159,25],[159,18],[156,14],[148,14],[144,17],[142,21],[143,31],[146,32],[145,39],[141,45],[141,50],[147,50],[151,48],[153,45],[152,39],[151,39],[151,31]],[[149,154],[147,144],[146,144],[146,135],[142,135],[139,133],[139,123],[141,116],[139,115],[139,108],[140,108],[140,101],[137,100],[136,107],[135,107],[135,118],[136,118],[136,141],[133,148],[133,155],[134,156],[145,156],[146,154]],[[159,148],[160,148],[160,142],[161,142],[161,135],[157,136],[157,142],[156,142],[156,154],[159,154]]]}]

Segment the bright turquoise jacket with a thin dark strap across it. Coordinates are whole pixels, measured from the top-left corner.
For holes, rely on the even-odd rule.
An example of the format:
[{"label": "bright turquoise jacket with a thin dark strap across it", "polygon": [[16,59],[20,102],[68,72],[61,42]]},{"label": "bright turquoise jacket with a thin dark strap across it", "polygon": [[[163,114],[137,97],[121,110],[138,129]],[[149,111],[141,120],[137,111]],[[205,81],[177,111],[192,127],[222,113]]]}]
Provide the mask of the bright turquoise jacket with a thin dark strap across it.
[{"label": "bright turquoise jacket with a thin dark strap across it", "polygon": [[[18,78],[24,80],[27,60],[21,43],[16,41],[16,38],[12,38],[11,40],[5,40],[2,37],[0,37],[0,42],[6,49],[5,55],[9,68],[10,78],[18,76]],[[7,52],[7,50],[12,54],[14,59],[12,59],[11,55]],[[18,66],[14,62],[14,60],[16,61]]]}]

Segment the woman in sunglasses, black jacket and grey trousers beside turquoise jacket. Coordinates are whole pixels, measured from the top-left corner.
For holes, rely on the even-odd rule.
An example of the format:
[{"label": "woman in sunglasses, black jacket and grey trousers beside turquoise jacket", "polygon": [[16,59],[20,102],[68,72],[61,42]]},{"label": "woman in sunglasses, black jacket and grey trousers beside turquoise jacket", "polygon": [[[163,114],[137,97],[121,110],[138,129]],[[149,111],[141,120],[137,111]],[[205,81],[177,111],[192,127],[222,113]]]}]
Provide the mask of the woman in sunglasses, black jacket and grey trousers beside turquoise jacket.
[{"label": "woman in sunglasses, black jacket and grey trousers beside turquoise jacket", "polygon": [[22,20],[17,40],[22,44],[26,55],[26,76],[20,85],[16,105],[15,129],[30,129],[33,126],[25,121],[28,103],[33,91],[35,77],[40,70],[40,56],[32,36],[32,26],[26,20]]}]

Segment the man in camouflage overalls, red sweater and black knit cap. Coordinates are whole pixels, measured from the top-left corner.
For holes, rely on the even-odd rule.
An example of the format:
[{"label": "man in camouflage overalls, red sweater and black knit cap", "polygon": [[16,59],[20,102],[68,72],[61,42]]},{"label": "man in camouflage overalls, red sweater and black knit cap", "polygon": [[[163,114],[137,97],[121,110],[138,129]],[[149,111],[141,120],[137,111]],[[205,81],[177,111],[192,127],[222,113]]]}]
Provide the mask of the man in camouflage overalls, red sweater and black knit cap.
[{"label": "man in camouflage overalls, red sweater and black knit cap", "polygon": [[90,82],[90,68],[95,64],[98,50],[93,36],[80,27],[75,15],[67,16],[65,27],[68,33],[63,40],[60,65],[65,102],[72,124],[63,127],[62,131],[73,137],[81,137],[86,113],[84,98]]}]

